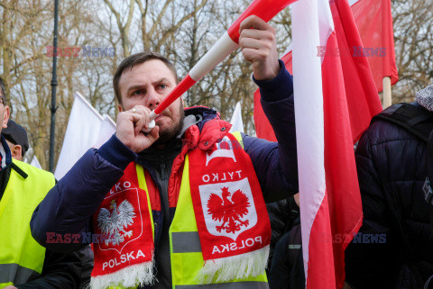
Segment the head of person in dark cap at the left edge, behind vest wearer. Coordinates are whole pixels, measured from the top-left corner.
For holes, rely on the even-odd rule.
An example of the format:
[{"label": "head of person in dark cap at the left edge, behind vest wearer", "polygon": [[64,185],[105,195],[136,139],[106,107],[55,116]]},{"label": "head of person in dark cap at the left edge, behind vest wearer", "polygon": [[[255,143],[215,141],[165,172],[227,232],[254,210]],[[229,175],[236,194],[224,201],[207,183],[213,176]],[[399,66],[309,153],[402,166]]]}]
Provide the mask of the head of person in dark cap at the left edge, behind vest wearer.
[{"label": "head of person in dark cap at the left edge, behind vest wearer", "polygon": [[21,125],[9,119],[7,127],[2,131],[2,135],[11,150],[12,158],[23,161],[24,154],[29,149],[27,131]]}]

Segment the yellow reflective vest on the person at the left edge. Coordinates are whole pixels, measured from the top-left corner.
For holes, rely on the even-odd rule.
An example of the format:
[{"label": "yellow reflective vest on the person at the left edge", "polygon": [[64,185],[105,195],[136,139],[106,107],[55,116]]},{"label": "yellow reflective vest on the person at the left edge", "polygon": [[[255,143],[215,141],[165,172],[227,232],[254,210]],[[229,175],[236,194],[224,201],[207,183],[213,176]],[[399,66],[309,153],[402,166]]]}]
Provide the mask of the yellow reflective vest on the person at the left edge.
[{"label": "yellow reflective vest on the person at the left edge", "polygon": [[24,284],[41,275],[45,248],[30,232],[30,220],[55,184],[54,176],[20,161],[14,164],[28,175],[23,178],[11,169],[5,193],[0,200],[0,288],[10,284]]}]

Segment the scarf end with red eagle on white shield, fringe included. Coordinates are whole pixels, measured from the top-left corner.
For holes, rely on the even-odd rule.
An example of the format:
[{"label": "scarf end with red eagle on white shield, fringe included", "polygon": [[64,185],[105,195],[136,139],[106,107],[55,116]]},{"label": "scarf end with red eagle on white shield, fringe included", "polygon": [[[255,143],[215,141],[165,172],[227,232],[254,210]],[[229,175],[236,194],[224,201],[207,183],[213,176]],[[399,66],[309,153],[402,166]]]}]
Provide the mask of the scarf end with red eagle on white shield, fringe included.
[{"label": "scarf end with red eagle on white shield, fringe included", "polygon": [[271,225],[251,159],[235,136],[227,134],[207,151],[189,152],[189,177],[205,260],[198,281],[263,274]]}]

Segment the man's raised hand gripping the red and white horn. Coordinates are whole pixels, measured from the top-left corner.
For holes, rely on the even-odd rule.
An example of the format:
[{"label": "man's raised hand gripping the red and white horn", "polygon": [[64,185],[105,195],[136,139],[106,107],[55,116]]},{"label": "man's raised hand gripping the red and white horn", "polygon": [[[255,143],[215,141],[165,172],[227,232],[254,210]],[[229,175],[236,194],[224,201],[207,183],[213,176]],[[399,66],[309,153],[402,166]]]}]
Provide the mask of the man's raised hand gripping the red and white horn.
[{"label": "man's raised hand gripping the red and white horn", "polygon": [[270,80],[280,72],[275,41],[275,29],[261,18],[252,15],[241,23],[239,45],[244,59],[253,63],[257,80]]}]

